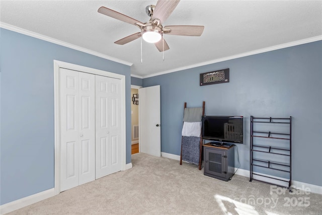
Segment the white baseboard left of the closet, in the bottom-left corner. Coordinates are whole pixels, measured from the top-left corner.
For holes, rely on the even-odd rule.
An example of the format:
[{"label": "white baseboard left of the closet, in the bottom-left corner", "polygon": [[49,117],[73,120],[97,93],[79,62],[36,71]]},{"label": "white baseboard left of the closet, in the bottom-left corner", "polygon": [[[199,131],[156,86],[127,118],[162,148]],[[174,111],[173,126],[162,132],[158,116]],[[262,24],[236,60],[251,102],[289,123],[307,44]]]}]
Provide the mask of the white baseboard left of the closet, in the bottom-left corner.
[{"label": "white baseboard left of the closet, in the bottom-left corner", "polygon": [[28,206],[30,204],[34,204],[38,201],[42,201],[54,195],[55,195],[55,189],[51,188],[49,190],[45,190],[24,198],[17,199],[15,201],[11,201],[9,203],[6,203],[0,206],[1,207],[0,214],[5,214],[5,213],[12,212],[14,210],[18,210],[22,207]]}]

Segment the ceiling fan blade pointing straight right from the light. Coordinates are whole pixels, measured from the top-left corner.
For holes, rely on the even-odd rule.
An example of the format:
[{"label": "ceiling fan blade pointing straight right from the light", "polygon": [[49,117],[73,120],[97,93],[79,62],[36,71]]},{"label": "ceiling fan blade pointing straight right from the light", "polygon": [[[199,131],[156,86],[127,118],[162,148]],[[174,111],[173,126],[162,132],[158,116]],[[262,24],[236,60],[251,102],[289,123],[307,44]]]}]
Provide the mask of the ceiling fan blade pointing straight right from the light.
[{"label": "ceiling fan blade pointing straight right from the light", "polygon": [[166,34],[179,35],[179,36],[200,36],[203,32],[204,26],[200,25],[172,25],[165,26],[167,29],[171,29]]}]

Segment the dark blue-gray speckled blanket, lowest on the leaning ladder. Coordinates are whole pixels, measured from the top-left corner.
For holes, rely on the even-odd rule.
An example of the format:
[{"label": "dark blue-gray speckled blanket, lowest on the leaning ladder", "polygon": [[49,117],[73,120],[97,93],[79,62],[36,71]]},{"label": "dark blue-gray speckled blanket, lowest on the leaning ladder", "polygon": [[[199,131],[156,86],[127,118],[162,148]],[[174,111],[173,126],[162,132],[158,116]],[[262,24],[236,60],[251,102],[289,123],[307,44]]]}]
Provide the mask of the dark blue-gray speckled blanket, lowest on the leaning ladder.
[{"label": "dark blue-gray speckled blanket, lowest on the leaning ladder", "polygon": [[199,165],[200,137],[182,136],[182,160]]}]

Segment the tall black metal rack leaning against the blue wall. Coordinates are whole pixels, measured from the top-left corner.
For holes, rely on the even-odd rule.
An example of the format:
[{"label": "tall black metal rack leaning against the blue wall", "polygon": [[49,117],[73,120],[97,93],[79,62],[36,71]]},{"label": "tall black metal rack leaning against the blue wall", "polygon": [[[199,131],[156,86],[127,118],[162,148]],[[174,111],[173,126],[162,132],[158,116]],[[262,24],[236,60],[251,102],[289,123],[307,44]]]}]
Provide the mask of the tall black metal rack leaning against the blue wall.
[{"label": "tall black metal rack leaning against the blue wall", "polygon": [[[260,130],[254,130],[254,124],[256,123],[273,123],[278,126],[278,124],[288,124],[289,125],[289,132],[288,133],[279,133],[279,132],[271,132],[271,131],[260,131]],[[272,183],[260,179],[255,179],[254,175],[258,175],[264,178],[270,178],[278,181],[283,181],[288,183],[288,188],[290,192],[291,190],[291,183],[292,183],[292,117],[289,118],[272,118],[272,117],[254,117],[251,116],[251,155],[250,155],[250,182],[252,180],[261,181],[277,186],[281,186],[277,183]],[[270,139],[282,139],[286,140],[286,142],[289,142],[288,146],[268,146],[268,145],[257,145],[256,141],[254,139],[256,138],[270,138]],[[254,144],[255,142],[255,144]],[[286,156],[289,158],[288,163],[279,163],[276,161],[269,161],[269,160],[262,160],[262,159],[254,159],[254,154],[257,153],[268,153],[268,154],[274,154],[278,156]],[[288,159],[287,159],[288,160]],[[273,171],[281,171],[281,172],[287,172],[289,173],[289,180],[284,180],[278,177],[274,176],[267,176],[259,173],[255,173],[254,167],[259,168],[268,168],[272,169]],[[281,168],[278,168],[281,167]]]}]

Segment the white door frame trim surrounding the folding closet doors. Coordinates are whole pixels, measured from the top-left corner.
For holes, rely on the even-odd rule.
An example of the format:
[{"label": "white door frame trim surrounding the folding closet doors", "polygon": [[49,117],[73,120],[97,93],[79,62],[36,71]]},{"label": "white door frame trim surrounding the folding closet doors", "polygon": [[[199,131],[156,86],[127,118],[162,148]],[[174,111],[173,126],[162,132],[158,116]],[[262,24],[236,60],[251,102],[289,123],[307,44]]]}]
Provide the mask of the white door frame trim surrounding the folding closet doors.
[{"label": "white door frame trim surrounding the folding closet doors", "polygon": [[125,76],[99,70],[86,66],[76,65],[63,61],[54,60],[54,193],[60,193],[60,113],[59,113],[59,70],[60,68],[71,69],[83,73],[105,76],[121,80],[121,170],[126,169],[126,98],[125,98]]}]

